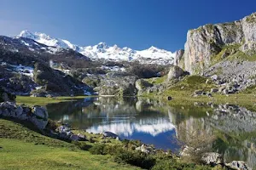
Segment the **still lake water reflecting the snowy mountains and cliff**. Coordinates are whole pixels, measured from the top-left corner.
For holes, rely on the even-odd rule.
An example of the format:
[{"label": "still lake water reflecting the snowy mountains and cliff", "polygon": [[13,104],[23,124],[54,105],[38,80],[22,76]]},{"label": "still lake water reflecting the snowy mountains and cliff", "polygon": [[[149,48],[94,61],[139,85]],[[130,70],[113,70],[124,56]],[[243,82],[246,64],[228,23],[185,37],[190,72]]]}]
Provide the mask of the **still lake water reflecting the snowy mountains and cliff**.
[{"label": "still lake water reflecting the snowy mountains and cliff", "polygon": [[181,136],[195,130],[214,134],[212,150],[225,161],[256,167],[256,112],[239,105],[166,105],[150,99],[107,97],[47,105],[49,118],[92,133],[110,131],[121,139],[139,139],[156,148],[180,150]]}]

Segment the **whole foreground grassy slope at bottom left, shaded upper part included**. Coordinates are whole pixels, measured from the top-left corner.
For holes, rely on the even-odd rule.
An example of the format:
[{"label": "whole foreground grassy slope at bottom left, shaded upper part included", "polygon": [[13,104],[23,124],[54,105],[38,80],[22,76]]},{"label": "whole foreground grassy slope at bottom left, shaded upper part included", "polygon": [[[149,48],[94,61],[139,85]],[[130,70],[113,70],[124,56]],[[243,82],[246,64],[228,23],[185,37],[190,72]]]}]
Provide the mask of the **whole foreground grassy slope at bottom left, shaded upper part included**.
[{"label": "whole foreground grassy slope at bottom left, shaded upper part included", "polygon": [[0,119],[0,169],[139,169],[112,156],[90,155],[76,145],[51,139],[32,129]]}]

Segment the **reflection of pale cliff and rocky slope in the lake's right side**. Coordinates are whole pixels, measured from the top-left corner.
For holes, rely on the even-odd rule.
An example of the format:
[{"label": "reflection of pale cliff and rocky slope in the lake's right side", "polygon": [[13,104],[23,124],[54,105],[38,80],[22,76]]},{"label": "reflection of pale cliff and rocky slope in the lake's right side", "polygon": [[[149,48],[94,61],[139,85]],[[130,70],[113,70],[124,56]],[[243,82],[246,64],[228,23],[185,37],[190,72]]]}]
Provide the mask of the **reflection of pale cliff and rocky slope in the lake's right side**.
[{"label": "reflection of pale cliff and rocky slope in the lake's right side", "polygon": [[256,112],[237,105],[211,105],[211,108],[207,116],[189,117],[180,122],[177,137],[183,131],[200,127],[202,132],[217,135],[212,148],[222,153],[225,161],[243,160],[256,167]]}]

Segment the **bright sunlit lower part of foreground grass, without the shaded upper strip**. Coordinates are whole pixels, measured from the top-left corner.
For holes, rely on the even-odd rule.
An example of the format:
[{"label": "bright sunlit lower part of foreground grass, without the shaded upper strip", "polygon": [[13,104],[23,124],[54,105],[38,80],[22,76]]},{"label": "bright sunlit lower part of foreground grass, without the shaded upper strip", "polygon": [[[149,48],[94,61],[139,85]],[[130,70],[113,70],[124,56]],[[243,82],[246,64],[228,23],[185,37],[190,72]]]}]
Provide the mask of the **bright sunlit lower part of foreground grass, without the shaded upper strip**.
[{"label": "bright sunlit lower part of foreground grass, without the shaded upper strip", "polygon": [[88,151],[35,145],[18,139],[0,139],[0,169],[138,169],[121,165],[110,156]]}]

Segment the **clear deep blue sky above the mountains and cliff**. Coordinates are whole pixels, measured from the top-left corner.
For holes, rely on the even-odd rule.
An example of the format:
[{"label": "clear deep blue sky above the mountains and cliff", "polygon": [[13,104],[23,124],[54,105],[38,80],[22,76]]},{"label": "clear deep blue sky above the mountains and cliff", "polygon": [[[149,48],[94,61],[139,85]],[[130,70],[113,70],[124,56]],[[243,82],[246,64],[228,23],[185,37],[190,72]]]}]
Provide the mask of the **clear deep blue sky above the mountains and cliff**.
[{"label": "clear deep blue sky above the mountains and cliff", "polygon": [[0,35],[41,31],[81,46],[183,48],[189,29],[240,20],[255,0],[0,0]]}]

